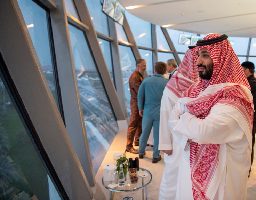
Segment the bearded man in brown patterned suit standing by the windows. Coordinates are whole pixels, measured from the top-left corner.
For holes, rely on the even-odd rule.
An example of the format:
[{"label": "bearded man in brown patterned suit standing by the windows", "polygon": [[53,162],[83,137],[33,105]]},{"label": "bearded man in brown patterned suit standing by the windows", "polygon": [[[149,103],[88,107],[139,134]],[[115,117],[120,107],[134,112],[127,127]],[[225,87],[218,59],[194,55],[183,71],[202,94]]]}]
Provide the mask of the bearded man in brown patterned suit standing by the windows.
[{"label": "bearded man in brown patterned suit standing by the windows", "polygon": [[137,95],[139,86],[141,85],[146,73],[146,64],[147,62],[144,59],[138,59],[136,61],[136,69],[129,78],[131,93],[131,117],[127,130],[127,144],[125,151],[130,153],[138,153],[138,151],[133,148],[133,141],[135,146],[139,146],[139,136],[142,133],[142,117],[139,115]]}]

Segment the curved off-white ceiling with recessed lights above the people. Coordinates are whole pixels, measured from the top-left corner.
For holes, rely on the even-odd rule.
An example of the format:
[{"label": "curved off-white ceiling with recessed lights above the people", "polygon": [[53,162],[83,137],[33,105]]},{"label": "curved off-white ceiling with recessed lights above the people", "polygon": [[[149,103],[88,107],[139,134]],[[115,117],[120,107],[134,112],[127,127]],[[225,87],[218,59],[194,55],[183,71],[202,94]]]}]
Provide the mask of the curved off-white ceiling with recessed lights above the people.
[{"label": "curved off-white ceiling with recessed lights above the people", "polygon": [[[256,37],[256,0],[119,0],[152,24],[195,34]],[[129,9],[129,6],[136,6]],[[130,7],[132,8],[132,7]]]}]

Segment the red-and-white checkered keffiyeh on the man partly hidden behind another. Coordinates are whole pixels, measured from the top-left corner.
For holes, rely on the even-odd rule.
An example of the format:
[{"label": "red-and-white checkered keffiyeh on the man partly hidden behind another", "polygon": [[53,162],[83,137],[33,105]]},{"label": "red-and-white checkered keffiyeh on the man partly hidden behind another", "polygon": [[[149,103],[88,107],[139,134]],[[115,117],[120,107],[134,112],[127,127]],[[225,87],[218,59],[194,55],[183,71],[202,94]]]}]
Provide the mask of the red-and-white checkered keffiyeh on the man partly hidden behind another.
[{"label": "red-and-white checkered keffiyeh on the man partly hidden behind another", "polygon": [[166,88],[180,98],[183,91],[187,90],[193,82],[197,81],[198,77],[198,67],[192,57],[191,49],[188,49],[177,71],[166,84]]}]

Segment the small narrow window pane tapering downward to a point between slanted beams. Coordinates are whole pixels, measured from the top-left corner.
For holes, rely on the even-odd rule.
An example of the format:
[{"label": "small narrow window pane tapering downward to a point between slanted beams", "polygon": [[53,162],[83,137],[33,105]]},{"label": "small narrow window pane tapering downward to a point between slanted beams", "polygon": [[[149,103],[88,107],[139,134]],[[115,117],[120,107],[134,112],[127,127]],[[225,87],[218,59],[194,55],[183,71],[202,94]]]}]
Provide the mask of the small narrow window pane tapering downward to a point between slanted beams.
[{"label": "small narrow window pane tapering downward to a point between slanted beams", "polygon": [[107,63],[107,67],[109,69],[109,73],[111,75],[112,81],[114,83],[114,77],[113,77],[113,65],[112,65],[112,58],[111,58],[111,48],[110,48],[110,42],[103,40],[101,38],[98,38],[99,45],[101,46],[101,50],[104,54],[105,61]]}]

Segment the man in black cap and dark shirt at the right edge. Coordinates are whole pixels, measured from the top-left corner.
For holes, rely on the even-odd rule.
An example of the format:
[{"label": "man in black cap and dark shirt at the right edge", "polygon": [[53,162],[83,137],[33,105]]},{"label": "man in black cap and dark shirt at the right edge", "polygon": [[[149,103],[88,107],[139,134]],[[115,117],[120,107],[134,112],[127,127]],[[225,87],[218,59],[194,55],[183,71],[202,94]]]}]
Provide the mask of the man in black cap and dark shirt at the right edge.
[{"label": "man in black cap and dark shirt at the right edge", "polygon": [[[243,62],[243,71],[251,87],[251,94],[253,95],[254,110],[256,110],[256,78],[254,77],[254,64],[250,61]],[[253,112],[253,146],[255,142],[255,132],[256,132],[256,113]],[[251,151],[251,164],[253,163],[253,149]],[[250,169],[251,171],[251,169]],[[249,175],[250,176],[250,175]]]}]

